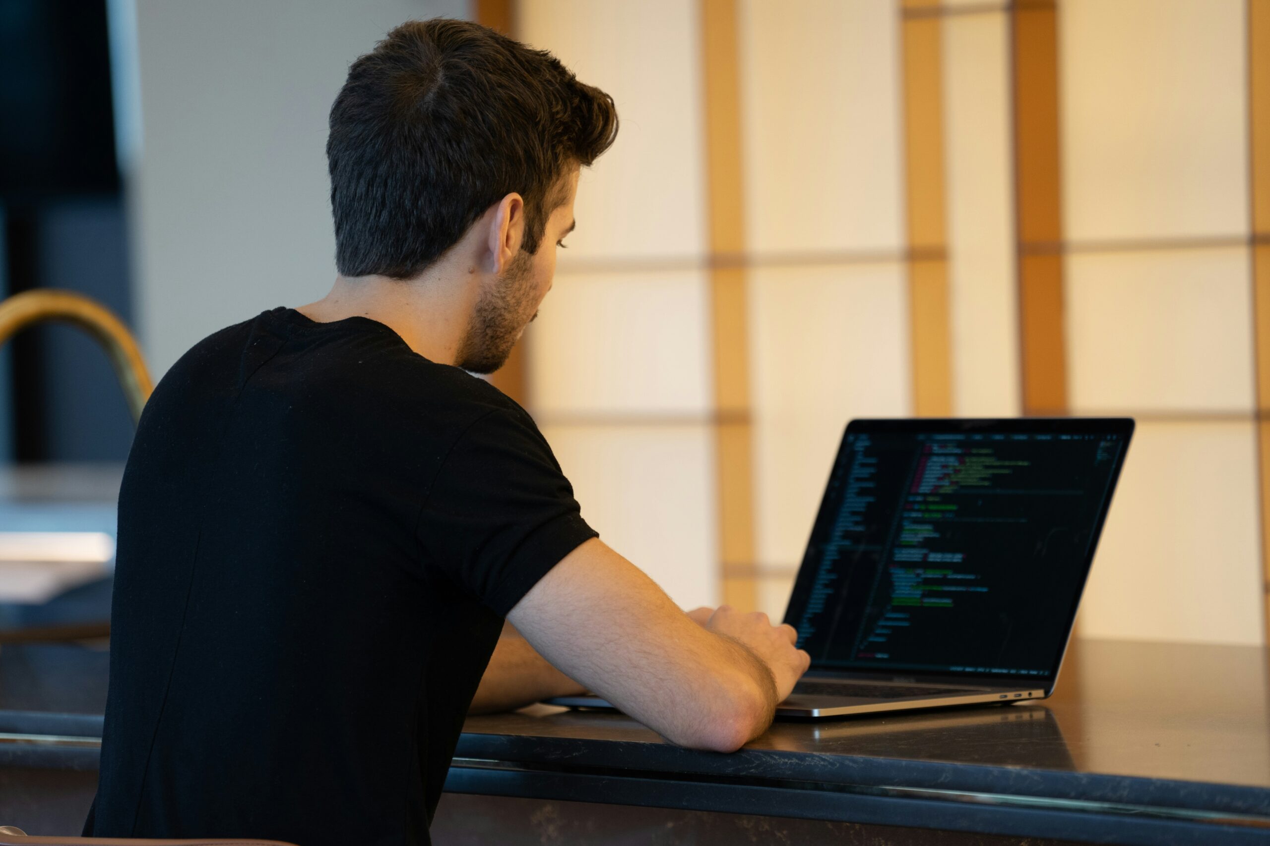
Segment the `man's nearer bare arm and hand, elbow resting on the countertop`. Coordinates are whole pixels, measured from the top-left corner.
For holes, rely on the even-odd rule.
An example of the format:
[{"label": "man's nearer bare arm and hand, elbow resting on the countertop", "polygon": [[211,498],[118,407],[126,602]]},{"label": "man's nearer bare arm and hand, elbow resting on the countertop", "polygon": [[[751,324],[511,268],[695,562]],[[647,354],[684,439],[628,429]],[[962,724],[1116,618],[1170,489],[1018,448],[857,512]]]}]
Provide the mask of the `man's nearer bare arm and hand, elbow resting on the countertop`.
[{"label": "man's nearer bare arm and hand, elbow resting on the countertop", "polygon": [[810,662],[794,629],[766,614],[723,606],[698,625],[598,539],[565,556],[508,619],[566,677],[693,748],[730,752],[765,732]]}]

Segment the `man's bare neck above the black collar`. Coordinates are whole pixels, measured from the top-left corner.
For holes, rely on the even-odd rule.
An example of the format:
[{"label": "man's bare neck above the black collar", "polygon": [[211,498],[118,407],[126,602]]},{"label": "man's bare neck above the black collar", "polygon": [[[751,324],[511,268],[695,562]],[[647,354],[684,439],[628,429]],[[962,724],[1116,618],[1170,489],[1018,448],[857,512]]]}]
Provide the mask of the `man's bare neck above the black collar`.
[{"label": "man's bare neck above the black collar", "polygon": [[384,323],[431,361],[453,364],[476,304],[478,287],[431,268],[410,280],[338,277],[330,293],[296,311],[329,323],[368,317]]}]

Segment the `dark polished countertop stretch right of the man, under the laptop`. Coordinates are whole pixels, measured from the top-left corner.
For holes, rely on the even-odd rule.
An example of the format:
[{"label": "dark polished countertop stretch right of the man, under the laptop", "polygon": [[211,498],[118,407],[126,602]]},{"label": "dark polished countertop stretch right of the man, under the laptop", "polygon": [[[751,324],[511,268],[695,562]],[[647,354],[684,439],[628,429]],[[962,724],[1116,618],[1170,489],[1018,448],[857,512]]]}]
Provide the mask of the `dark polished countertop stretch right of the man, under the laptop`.
[{"label": "dark polished countertop stretch right of the man, under the laptop", "polygon": [[1044,703],[777,722],[737,755],[620,714],[467,720],[456,755],[941,786],[1270,816],[1270,687],[1253,647],[1083,642]]}]

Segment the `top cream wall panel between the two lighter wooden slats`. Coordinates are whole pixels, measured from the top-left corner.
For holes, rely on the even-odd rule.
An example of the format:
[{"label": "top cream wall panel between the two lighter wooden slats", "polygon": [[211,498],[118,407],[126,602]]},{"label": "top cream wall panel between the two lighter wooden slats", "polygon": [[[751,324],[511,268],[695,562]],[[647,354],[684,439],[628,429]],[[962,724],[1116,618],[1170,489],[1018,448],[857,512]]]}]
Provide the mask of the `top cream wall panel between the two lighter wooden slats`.
[{"label": "top cream wall panel between the two lighter wooden slats", "polygon": [[903,245],[893,0],[740,1],[752,252]]}]

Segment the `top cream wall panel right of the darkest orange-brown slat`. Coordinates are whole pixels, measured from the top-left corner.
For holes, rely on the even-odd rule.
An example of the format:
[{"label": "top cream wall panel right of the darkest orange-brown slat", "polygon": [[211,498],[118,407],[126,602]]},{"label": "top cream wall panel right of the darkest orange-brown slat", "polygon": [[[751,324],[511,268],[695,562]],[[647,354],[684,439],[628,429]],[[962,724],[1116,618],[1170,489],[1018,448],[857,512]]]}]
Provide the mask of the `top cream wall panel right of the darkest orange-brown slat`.
[{"label": "top cream wall panel right of the darkest orange-brown slat", "polygon": [[1243,0],[1062,4],[1069,238],[1247,233],[1243,19]]}]

